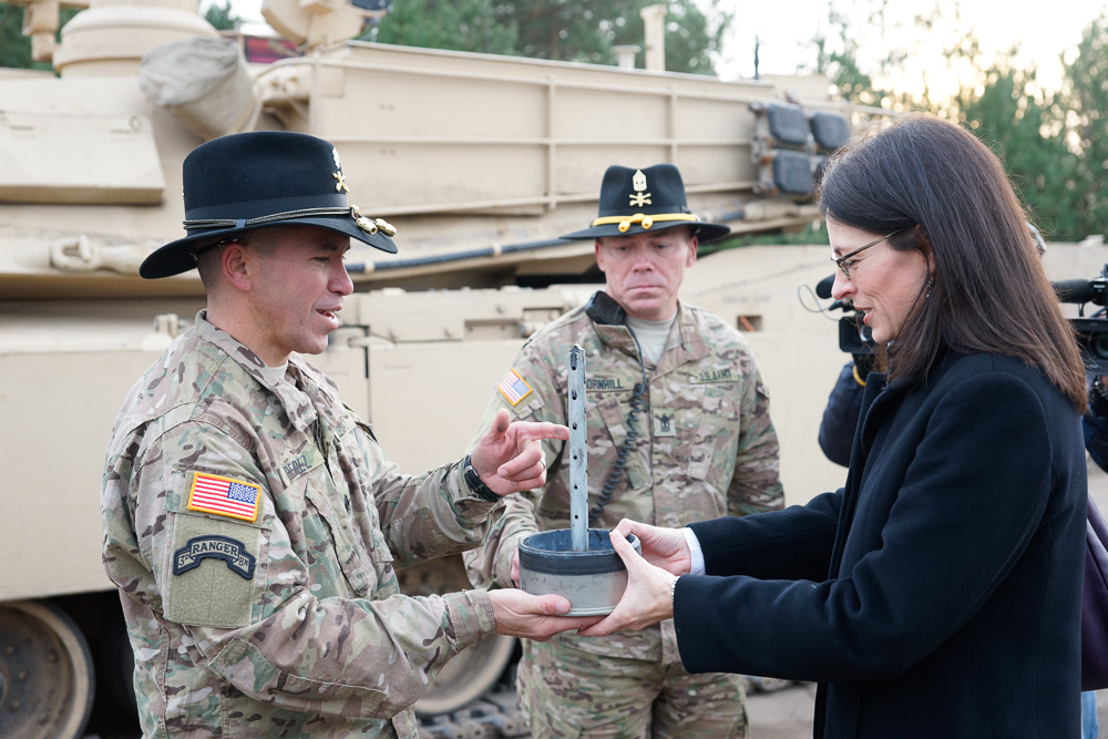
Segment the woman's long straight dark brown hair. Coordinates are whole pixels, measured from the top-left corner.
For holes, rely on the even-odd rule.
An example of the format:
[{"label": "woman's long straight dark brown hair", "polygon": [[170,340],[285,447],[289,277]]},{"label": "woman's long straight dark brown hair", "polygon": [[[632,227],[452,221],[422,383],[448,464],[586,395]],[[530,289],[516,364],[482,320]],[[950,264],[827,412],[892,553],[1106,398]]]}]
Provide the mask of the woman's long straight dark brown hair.
[{"label": "woman's long straight dark brown hair", "polygon": [[973,134],[913,115],[862,136],[828,164],[819,207],[829,220],[874,234],[903,229],[889,244],[934,266],[934,283],[888,347],[890,379],[925,380],[946,349],[1007,355],[1084,411],[1074,331],[1004,167]]}]

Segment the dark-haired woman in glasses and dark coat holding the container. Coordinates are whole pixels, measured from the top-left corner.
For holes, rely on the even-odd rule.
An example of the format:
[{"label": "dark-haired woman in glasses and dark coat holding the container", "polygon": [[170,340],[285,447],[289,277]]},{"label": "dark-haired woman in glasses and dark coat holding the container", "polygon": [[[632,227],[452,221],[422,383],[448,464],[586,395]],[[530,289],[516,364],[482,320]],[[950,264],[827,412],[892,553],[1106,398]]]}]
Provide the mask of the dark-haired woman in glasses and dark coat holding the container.
[{"label": "dark-haired woman in glasses and dark coat holding the container", "polygon": [[817,738],[1077,737],[1086,389],[1010,184],[972,134],[914,116],[835,156],[820,207],[832,295],[888,360],[845,486],[622,522],[627,592],[582,633],[673,616],[690,671],[819,681]]}]

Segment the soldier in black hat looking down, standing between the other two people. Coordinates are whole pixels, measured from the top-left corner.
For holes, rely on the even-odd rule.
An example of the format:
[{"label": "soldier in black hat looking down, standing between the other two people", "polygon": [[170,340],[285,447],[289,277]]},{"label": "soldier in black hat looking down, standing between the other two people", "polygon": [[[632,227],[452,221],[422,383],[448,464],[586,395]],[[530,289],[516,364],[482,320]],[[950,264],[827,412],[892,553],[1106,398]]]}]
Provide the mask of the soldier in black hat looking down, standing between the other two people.
[{"label": "soldier in black hat looking down, standing between the other two people", "polygon": [[[730,229],[688,207],[677,167],[608,167],[599,213],[567,239],[595,239],[605,289],[535,333],[486,412],[565,423],[566,356],[585,350],[589,526],[620,519],[685,526],[781,507],[769,398],[746,340],[678,299],[697,246]],[[519,544],[570,526],[564,440],[543,443],[545,485],[513,495],[480,550],[475,585],[514,587]],[[673,622],[603,638],[525,643],[520,704],[541,737],[745,737],[737,675],[690,675]]]}]

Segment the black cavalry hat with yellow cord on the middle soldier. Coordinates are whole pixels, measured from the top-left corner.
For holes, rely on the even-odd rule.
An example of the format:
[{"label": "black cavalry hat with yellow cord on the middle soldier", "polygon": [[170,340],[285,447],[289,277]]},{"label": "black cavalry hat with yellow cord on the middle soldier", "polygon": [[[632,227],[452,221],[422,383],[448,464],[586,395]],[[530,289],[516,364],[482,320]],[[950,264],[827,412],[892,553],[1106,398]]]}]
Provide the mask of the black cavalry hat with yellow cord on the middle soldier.
[{"label": "black cavalry hat with yellow cord on the middle soldier", "polygon": [[673,164],[643,170],[612,165],[601,183],[599,214],[592,226],[562,238],[627,236],[674,226],[691,226],[701,244],[731,233],[730,227],[700,220],[689,212],[681,173]]}]

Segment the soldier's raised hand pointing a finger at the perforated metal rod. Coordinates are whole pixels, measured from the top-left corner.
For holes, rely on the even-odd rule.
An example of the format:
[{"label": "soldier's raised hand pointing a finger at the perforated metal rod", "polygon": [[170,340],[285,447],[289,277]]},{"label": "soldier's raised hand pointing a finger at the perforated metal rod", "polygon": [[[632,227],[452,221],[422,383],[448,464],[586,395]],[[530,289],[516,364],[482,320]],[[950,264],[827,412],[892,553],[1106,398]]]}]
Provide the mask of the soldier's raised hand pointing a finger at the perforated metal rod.
[{"label": "soldier's raised hand pointing a finger at the perforated metal rod", "polygon": [[497,495],[535,490],[546,484],[543,439],[570,438],[561,423],[515,421],[501,409],[470,453],[470,463]]}]

